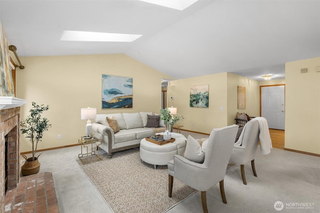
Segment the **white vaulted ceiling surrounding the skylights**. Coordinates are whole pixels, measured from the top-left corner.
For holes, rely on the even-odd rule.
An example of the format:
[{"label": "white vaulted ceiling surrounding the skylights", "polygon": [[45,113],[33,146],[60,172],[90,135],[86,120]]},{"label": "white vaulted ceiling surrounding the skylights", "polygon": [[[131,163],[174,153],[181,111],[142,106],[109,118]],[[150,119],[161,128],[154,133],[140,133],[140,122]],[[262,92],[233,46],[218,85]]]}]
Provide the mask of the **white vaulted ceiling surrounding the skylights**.
[{"label": "white vaulted ceiling surrounding the skylights", "polygon": [[[319,11],[320,0],[198,0],[183,11],[138,0],[0,0],[19,56],[124,53],[175,79],[284,78],[285,62],[320,56]],[[143,36],[60,41],[63,30]]]}]

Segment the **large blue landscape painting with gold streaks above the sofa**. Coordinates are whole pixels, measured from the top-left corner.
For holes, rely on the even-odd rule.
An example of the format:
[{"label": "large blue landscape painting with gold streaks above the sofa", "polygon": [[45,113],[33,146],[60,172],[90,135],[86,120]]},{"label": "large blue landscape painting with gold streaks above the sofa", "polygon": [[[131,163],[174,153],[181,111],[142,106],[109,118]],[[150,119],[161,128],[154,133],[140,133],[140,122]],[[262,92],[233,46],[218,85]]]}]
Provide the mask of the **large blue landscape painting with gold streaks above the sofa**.
[{"label": "large blue landscape painting with gold streaks above the sofa", "polygon": [[102,109],[132,108],[132,78],[102,74]]}]

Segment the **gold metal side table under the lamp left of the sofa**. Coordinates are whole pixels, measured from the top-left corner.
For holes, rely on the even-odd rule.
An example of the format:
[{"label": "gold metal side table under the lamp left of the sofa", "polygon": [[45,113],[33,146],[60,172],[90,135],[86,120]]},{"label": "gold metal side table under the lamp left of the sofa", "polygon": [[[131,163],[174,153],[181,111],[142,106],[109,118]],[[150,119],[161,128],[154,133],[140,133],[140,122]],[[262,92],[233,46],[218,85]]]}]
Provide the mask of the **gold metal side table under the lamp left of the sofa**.
[{"label": "gold metal side table under the lamp left of the sofa", "polygon": [[[102,158],[99,155],[99,146],[102,144],[102,141],[94,136],[86,137],[82,136],[78,143],[81,143],[81,153],[78,154],[79,160],[82,162],[82,164],[87,164],[92,161],[101,161]],[[97,145],[97,154],[95,154],[95,151],[93,151],[93,144]],[[88,152],[88,147],[91,145],[91,152]],[[83,148],[86,148],[86,153],[82,153]],[[89,154],[91,156],[95,156],[95,158],[88,158]]]}]

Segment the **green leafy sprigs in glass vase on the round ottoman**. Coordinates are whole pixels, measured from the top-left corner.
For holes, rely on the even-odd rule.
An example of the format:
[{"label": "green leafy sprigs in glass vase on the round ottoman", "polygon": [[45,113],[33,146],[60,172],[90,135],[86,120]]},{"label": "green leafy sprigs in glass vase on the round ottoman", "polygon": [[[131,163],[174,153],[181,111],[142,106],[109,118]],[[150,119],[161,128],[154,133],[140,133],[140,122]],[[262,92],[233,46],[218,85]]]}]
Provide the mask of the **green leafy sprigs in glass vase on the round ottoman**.
[{"label": "green leafy sprigs in glass vase on the round ottoman", "polygon": [[160,111],[160,119],[163,120],[163,123],[165,125],[165,132],[163,134],[164,140],[170,140],[171,139],[171,133],[173,125],[179,121],[183,120],[184,117],[182,115],[172,115],[170,110],[168,108],[161,109]]}]

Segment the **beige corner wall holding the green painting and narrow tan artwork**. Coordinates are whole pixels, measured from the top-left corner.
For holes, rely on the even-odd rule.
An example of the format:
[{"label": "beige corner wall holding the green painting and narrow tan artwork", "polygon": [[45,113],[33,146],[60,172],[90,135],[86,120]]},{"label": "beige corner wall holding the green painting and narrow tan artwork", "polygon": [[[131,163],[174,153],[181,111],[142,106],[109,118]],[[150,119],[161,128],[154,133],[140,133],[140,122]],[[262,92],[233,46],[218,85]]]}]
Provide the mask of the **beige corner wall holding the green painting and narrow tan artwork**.
[{"label": "beige corner wall holding the green painting and narrow tan artwork", "polygon": [[[209,85],[209,108],[189,107],[190,86],[204,84]],[[178,114],[185,117],[177,122],[182,129],[209,134],[213,128],[234,124],[237,112],[260,116],[259,86],[275,84],[284,84],[284,79],[256,81],[225,72],[173,80],[168,84],[167,106],[177,107]],[[246,89],[245,109],[237,109],[237,86]]]}]

